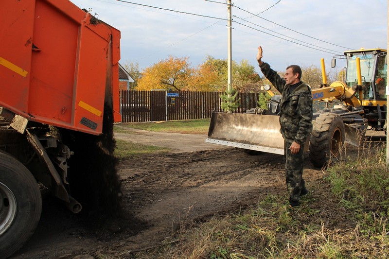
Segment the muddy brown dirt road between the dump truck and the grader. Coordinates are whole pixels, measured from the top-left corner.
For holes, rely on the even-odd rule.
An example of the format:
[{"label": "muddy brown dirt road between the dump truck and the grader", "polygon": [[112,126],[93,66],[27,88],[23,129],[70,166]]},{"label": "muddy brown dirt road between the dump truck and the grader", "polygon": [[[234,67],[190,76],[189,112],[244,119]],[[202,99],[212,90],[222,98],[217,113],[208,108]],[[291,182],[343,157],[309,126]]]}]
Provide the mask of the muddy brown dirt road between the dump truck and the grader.
[{"label": "muddy brown dirt road between the dump truck and the grader", "polygon": [[[182,224],[201,224],[212,216],[239,211],[268,193],[285,195],[286,203],[281,155],[247,155],[204,143],[206,136],[199,135],[144,131],[132,132],[132,138],[124,135],[115,136],[139,143],[151,141],[173,151],[120,163],[121,217],[107,218],[93,211],[75,215],[43,191],[40,223],[13,259],[131,258],[158,247]],[[168,140],[163,143],[161,139]],[[304,166],[309,188],[324,172],[309,159]]]}]

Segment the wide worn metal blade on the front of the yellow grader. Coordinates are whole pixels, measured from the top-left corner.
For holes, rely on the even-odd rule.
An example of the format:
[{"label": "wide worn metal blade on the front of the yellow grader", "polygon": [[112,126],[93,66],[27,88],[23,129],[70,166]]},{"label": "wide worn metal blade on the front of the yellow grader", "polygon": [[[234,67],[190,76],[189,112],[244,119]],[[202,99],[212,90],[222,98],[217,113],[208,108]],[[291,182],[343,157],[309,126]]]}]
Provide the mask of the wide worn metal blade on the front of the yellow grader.
[{"label": "wide worn metal blade on the front of the yellow grader", "polygon": [[213,112],[206,142],[283,155],[277,115]]}]

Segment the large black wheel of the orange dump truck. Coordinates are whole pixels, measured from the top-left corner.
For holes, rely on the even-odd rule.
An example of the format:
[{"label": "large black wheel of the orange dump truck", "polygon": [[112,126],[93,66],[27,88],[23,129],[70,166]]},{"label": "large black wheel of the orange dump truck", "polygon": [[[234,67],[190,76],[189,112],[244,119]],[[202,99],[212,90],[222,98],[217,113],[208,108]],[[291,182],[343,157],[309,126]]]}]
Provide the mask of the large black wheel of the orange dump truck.
[{"label": "large black wheel of the orange dump truck", "polygon": [[32,173],[16,158],[0,152],[0,258],[14,254],[39,222],[42,199]]}]

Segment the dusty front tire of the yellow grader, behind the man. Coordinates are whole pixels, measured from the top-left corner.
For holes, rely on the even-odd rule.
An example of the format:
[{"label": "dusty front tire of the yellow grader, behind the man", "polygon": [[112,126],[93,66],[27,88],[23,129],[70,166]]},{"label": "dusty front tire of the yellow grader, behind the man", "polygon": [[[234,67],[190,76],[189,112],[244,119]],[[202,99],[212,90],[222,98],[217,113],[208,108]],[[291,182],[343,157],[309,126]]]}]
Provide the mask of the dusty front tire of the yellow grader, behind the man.
[{"label": "dusty front tire of the yellow grader, behind the man", "polygon": [[338,160],[345,141],[342,118],[335,113],[321,113],[313,122],[309,142],[312,165],[318,168]]}]

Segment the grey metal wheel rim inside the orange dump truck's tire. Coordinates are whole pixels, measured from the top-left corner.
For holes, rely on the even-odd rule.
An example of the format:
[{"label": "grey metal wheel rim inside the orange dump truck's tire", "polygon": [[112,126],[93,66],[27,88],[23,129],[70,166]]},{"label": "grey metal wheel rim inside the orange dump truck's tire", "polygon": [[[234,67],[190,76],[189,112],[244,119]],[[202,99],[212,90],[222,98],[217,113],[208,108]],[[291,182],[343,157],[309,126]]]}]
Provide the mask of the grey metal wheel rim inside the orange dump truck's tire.
[{"label": "grey metal wheel rim inside the orange dump truck's tire", "polygon": [[0,183],[0,236],[7,231],[16,217],[17,202],[12,191]]}]

